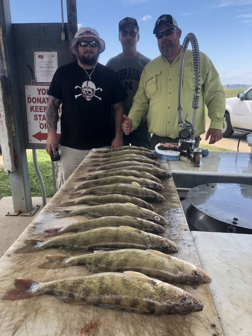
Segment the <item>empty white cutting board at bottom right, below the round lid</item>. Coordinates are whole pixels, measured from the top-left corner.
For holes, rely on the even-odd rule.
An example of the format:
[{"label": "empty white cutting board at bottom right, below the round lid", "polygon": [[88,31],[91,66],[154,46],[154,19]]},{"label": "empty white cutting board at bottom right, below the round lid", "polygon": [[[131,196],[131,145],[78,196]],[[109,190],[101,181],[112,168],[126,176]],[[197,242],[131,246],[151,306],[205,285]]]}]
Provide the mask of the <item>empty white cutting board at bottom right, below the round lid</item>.
[{"label": "empty white cutting board at bottom right, below the round lid", "polygon": [[252,335],[252,235],[191,231],[224,336]]}]

